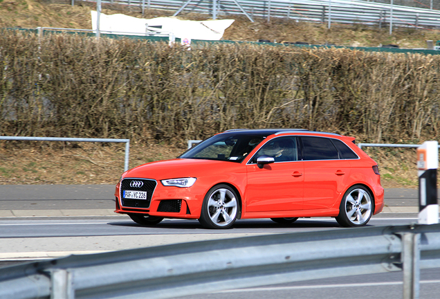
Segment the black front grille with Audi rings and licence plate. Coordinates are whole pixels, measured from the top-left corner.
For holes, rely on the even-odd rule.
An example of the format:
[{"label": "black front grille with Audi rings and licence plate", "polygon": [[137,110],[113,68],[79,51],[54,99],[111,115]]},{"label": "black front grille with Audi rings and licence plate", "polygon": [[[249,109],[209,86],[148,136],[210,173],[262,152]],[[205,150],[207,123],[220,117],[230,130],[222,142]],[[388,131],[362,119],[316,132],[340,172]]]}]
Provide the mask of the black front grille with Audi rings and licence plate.
[{"label": "black front grille with Audi rings and licence plate", "polygon": [[[130,183],[132,181],[143,182],[142,187],[131,187]],[[133,207],[133,208],[149,208],[149,203],[152,201],[154,189],[156,188],[157,182],[151,179],[123,179],[120,183],[120,199],[122,206]],[[124,190],[132,191],[146,191],[147,199],[125,199],[123,197]]]}]

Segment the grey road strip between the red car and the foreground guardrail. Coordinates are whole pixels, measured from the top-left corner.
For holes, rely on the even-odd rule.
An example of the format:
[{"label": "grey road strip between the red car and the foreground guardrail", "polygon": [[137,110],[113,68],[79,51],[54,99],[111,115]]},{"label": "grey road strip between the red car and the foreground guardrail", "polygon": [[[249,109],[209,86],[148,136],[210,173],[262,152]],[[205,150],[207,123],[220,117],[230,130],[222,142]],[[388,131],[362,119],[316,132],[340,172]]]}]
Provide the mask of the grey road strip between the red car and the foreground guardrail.
[{"label": "grey road strip between the red car and the foreground guardrail", "polygon": [[[405,215],[374,216],[369,226],[416,222],[416,214]],[[134,223],[127,216],[11,217],[0,219],[0,261],[102,253],[210,239],[342,229],[347,228],[341,228],[330,217],[299,219],[291,225],[276,224],[270,219],[244,219],[237,221],[234,228],[229,230],[206,230],[199,221],[171,219],[165,219],[154,227],[145,227]]]}]

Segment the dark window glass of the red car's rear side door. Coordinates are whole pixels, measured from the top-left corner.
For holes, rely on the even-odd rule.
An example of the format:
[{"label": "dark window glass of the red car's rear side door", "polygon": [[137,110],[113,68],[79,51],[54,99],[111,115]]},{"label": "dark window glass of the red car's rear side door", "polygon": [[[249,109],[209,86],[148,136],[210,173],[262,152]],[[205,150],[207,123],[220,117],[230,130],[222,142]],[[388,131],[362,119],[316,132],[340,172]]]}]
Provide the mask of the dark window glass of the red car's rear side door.
[{"label": "dark window glass of the red car's rear side door", "polygon": [[338,150],[329,138],[302,137],[302,157],[304,160],[337,160]]}]

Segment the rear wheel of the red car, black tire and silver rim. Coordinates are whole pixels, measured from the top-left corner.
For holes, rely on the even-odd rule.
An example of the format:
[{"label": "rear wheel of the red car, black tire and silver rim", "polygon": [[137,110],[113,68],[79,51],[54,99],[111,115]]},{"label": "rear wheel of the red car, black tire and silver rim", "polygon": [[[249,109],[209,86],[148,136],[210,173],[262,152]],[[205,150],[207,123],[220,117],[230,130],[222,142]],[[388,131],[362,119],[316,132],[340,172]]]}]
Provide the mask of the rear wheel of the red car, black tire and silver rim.
[{"label": "rear wheel of the red car, black tire and silver rim", "polygon": [[345,227],[365,226],[374,211],[374,198],[363,185],[354,185],[340,202],[338,224]]}]

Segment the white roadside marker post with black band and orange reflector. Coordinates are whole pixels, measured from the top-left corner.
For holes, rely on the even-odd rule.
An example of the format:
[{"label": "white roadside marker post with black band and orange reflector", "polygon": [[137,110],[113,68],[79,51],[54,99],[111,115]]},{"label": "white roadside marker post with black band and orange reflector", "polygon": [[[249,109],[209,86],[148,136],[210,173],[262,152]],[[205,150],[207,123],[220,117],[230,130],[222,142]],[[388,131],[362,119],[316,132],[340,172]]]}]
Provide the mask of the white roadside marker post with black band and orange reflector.
[{"label": "white roadside marker post with black band and orange reflector", "polygon": [[439,143],[425,141],[417,148],[419,170],[419,224],[439,223],[437,203],[437,168],[439,167]]}]

